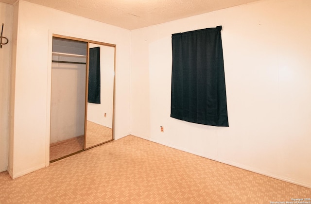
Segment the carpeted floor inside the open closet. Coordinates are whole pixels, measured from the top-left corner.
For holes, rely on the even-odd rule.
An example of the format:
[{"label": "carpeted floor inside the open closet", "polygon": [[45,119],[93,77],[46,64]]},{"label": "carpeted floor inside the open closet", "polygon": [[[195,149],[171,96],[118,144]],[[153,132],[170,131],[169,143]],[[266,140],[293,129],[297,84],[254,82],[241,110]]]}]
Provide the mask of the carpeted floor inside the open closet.
[{"label": "carpeted floor inside the open closet", "polygon": [[50,161],[59,159],[84,149],[84,136],[77,136],[67,140],[50,144]]}]

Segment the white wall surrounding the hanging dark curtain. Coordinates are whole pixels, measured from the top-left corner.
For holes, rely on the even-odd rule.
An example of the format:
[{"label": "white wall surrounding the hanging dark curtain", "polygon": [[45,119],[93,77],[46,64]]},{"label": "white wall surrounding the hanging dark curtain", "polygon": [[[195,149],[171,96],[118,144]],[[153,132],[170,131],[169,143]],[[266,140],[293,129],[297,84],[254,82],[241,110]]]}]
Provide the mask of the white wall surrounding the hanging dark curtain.
[{"label": "white wall surrounding the hanging dark curtain", "polygon": [[[132,31],[131,134],[311,187],[310,11],[263,0]],[[170,118],[171,34],[218,25],[229,127]]]}]

